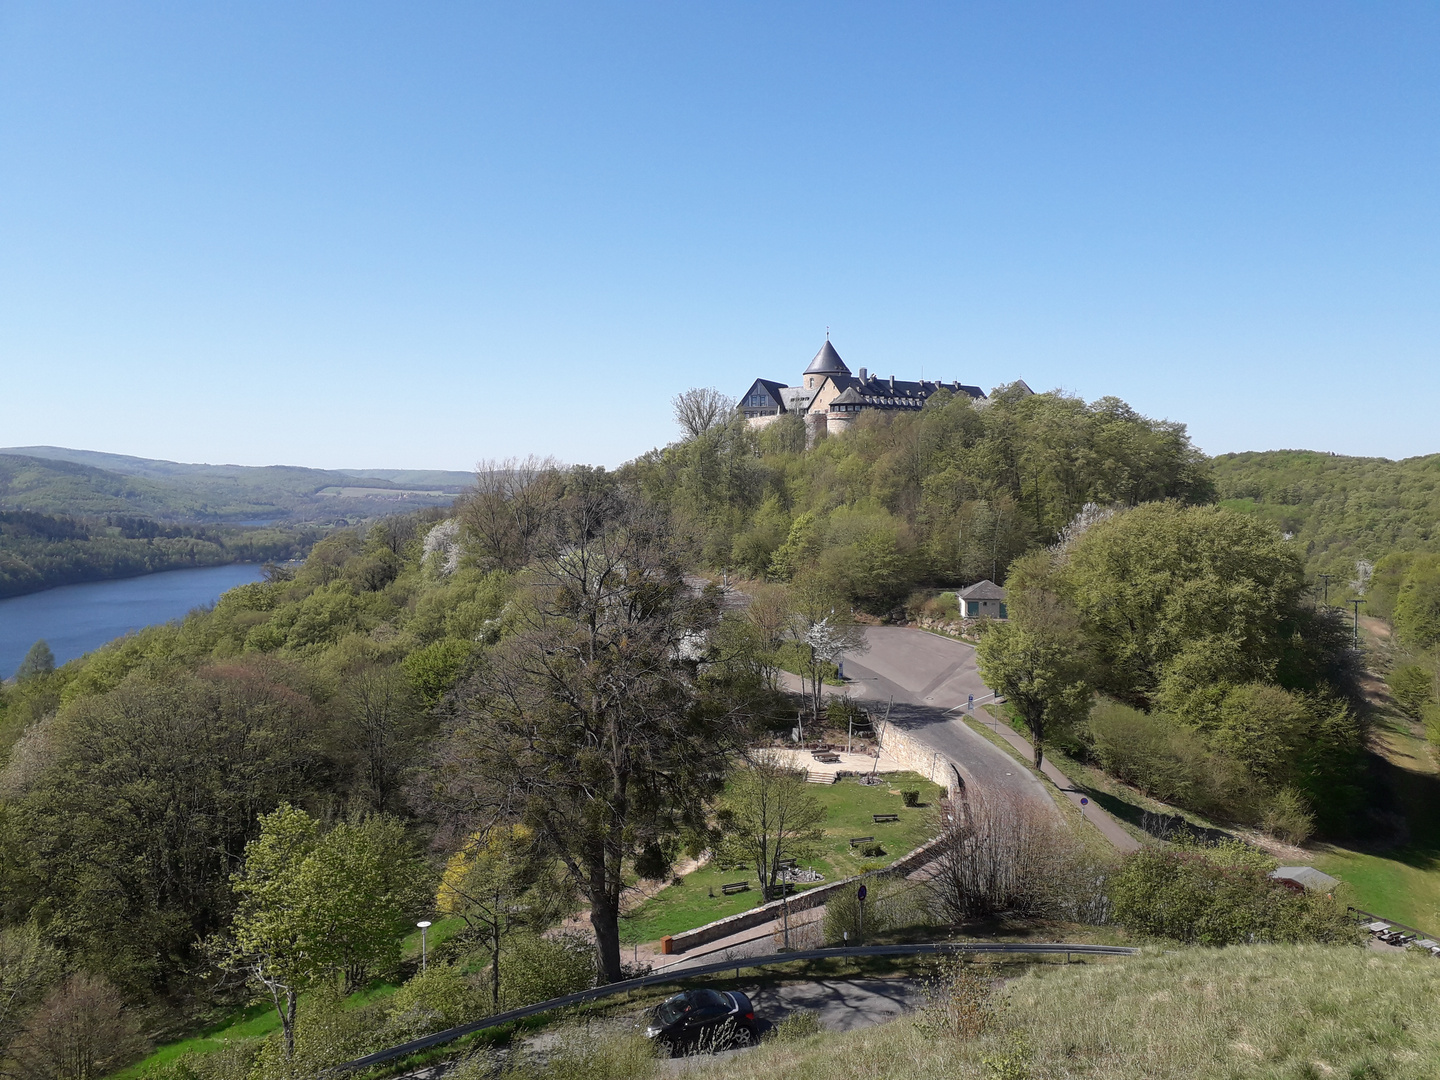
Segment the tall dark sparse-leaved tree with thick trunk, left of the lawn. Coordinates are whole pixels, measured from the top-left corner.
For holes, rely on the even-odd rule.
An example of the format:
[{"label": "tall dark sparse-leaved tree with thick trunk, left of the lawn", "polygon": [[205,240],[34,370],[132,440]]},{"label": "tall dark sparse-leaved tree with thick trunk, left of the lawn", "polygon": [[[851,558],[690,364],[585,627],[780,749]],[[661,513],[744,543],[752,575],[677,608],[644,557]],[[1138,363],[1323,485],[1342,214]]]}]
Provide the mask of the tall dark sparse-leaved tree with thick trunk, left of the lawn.
[{"label": "tall dark sparse-leaved tree with thick trunk, left of the lawn", "polygon": [[730,742],[694,681],[716,600],[685,585],[683,556],[667,517],[572,475],[518,629],[465,688],[435,769],[452,829],[521,822],[560,860],[608,981],[629,865],[662,876],[680,831],[704,827]]}]

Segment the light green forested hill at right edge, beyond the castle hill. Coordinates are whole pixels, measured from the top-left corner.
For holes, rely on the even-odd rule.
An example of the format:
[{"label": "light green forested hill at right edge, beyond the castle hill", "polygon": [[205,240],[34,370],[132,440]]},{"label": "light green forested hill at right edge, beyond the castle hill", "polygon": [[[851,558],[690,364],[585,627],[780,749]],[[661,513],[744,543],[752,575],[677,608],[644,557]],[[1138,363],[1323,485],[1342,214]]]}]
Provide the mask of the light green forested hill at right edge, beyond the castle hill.
[{"label": "light green forested hill at right edge, beyond the castle hill", "polygon": [[1390,461],[1263,451],[1223,454],[1212,469],[1221,505],[1293,534],[1308,570],[1332,575],[1332,600],[1355,579],[1356,560],[1440,550],[1440,454]]}]

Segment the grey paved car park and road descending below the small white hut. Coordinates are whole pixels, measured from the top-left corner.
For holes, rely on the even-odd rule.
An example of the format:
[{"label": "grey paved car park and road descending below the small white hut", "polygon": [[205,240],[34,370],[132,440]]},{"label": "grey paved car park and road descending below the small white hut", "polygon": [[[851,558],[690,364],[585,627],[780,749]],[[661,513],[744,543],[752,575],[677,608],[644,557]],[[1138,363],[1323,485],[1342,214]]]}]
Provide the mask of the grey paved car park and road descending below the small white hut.
[{"label": "grey paved car park and road descending below the small white hut", "polygon": [[[890,723],[960,766],[966,785],[1054,805],[1027,769],[959,719],[969,696],[991,700],[975,649],[909,626],[868,626],[868,651],[845,657],[851,697],[880,706],[894,697]],[[874,711],[874,710],[871,710]]]}]

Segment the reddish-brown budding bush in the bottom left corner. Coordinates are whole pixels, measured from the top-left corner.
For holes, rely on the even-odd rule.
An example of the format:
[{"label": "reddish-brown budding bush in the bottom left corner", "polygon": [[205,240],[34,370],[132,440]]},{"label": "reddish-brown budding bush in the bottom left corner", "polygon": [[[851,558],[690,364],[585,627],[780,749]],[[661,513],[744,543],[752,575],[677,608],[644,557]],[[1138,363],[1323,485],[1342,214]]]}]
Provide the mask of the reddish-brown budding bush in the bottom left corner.
[{"label": "reddish-brown budding bush in the bottom left corner", "polygon": [[10,1048],[19,1080],[99,1080],[144,1043],[120,992],[76,972],[46,995]]}]

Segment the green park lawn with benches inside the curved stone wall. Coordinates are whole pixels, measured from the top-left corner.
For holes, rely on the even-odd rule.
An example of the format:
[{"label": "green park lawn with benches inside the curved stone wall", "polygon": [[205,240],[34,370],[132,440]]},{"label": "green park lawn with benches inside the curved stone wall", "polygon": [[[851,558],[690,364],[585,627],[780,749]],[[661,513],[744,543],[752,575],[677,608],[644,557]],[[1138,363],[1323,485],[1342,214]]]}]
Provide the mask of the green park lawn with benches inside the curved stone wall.
[{"label": "green park lawn with benches inside the curved stone wall", "polygon": [[[933,835],[936,799],[940,788],[916,773],[887,773],[888,783],[865,786],[854,779],[842,779],[828,786],[811,785],[811,792],[825,806],[825,840],[815,858],[801,865],[812,867],[835,881],[865,870],[886,867],[920,847]],[[906,808],[900,791],[919,791],[917,808]],[[871,814],[899,814],[900,821],[877,825]],[[851,837],[874,837],[884,845],[883,858],[861,858],[850,847]],[[750,891],[724,896],[720,886],[749,881]],[[706,864],[687,874],[681,884],[668,886],[655,897],[621,920],[621,940],[654,942],[670,933],[693,930],[716,919],[739,914],[763,903],[759,883],[752,871],[719,870]]]}]

